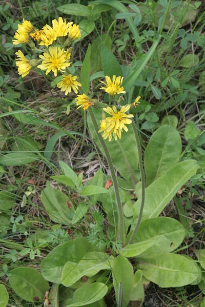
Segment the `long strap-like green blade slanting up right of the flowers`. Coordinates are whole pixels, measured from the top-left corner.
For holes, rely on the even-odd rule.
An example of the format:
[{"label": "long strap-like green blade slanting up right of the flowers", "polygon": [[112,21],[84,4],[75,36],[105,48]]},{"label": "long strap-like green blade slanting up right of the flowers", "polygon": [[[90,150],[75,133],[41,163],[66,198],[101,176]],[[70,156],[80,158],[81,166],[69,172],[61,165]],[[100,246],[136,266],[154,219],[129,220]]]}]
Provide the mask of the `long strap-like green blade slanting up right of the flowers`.
[{"label": "long strap-like green blade slanting up right of the flowers", "polygon": [[124,80],[123,86],[126,92],[129,91],[131,86],[134,84],[134,82],[137,80],[137,77],[141,73],[141,71],[145,68],[146,64],[148,63],[149,59],[151,58],[153,52],[157,48],[157,45],[159,44],[161,36],[158,36],[154,43],[152,44],[152,47],[149,49],[148,53],[144,56],[144,59],[141,61],[140,65],[136,67],[136,69]]}]

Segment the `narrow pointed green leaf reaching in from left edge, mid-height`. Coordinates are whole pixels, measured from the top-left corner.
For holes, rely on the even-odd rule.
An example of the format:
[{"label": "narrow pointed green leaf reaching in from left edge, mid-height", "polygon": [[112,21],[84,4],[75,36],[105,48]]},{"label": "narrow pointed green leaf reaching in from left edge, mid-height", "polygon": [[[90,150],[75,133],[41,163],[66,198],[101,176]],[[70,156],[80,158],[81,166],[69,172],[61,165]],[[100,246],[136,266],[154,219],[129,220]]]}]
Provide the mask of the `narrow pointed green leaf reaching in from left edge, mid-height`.
[{"label": "narrow pointed green leaf reaching in from left edge, mid-height", "polygon": [[38,161],[39,157],[32,152],[10,152],[0,157],[0,164],[5,166],[25,165],[34,161]]}]

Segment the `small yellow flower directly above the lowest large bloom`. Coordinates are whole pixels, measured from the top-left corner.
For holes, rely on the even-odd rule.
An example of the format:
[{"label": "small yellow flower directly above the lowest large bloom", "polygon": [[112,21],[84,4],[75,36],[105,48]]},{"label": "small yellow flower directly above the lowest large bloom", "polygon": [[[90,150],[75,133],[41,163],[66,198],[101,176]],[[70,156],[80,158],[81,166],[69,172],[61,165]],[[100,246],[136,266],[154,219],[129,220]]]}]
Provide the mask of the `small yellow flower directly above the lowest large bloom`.
[{"label": "small yellow flower directly above the lowest large bloom", "polygon": [[112,77],[112,80],[109,76],[106,76],[106,82],[100,81],[101,83],[105,84],[106,87],[101,87],[101,90],[105,90],[106,93],[108,93],[110,96],[113,96],[115,94],[125,94],[126,92],[124,91],[124,87],[122,85],[124,77],[116,76],[114,75]]}]

